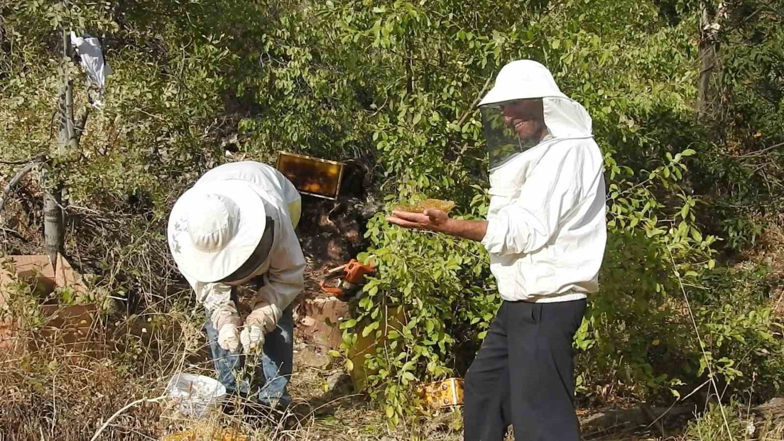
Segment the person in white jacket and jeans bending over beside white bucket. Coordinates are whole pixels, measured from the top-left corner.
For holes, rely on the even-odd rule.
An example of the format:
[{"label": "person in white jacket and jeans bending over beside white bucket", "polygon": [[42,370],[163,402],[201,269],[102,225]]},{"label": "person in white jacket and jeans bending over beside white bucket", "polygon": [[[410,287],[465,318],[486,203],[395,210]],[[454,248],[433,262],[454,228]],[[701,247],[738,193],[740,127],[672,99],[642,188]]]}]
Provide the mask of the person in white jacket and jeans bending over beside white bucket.
[{"label": "person in white jacket and jeans bending over beside white bucket", "polygon": [[[169,216],[169,248],[204,305],[219,381],[270,407],[290,403],[292,301],[303,290],[305,258],[294,228],[301,199],[278,170],[233,162],[205,173]],[[243,321],[238,287],[257,290]],[[238,378],[249,355],[256,372]]]}]

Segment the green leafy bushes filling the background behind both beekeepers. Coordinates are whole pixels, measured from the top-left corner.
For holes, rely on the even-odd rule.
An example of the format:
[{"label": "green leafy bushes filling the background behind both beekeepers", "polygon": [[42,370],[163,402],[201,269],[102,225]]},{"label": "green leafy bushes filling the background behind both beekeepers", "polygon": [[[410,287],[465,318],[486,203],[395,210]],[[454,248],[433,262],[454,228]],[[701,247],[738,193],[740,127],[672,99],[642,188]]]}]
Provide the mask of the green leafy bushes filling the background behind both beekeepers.
[{"label": "green leafy bushes filling the background behind both beekeepers", "polygon": [[[728,395],[780,388],[780,319],[756,288],[736,289],[764,277],[725,271],[718,253],[753,245],[760,214],[781,202],[782,149],[769,148],[781,142],[784,39],[780,14],[749,15],[756,0],[717,19],[727,29],[726,62],[710,83],[720,105],[701,121],[701,11],[688,2],[60,5],[0,6],[0,78],[10,78],[0,86],[0,151],[13,161],[49,155],[68,190],[67,250],[128,296],[129,310],[134,297],[182,300],[170,286],[179,276],[165,220],[188,184],[230,160],[227,144],[266,162],[281,149],[361,158],[375,173],[365,190],[389,204],[424,195],[484,217],[475,104],[503,64],[525,57],[586,106],[604,153],[608,246],[601,292],[575,337],[581,394],[620,383],[637,399],[671,399],[702,384],[706,363]],[[79,151],[67,154],[51,135],[61,22],[101,35],[114,70],[105,107],[91,110]],[[85,77],[67,68],[82,110]],[[361,257],[379,274],[358,317],[341,324],[344,349],[363,334],[389,337],[364,363],[375,372],[369,392],[399,421],[416,409],[414,382],[463,374],[500,299],[477,243],[399,231],[383,213],[367,239]],[[383,311],[395,306],[405,307],[405,330],[387,332]]]}]

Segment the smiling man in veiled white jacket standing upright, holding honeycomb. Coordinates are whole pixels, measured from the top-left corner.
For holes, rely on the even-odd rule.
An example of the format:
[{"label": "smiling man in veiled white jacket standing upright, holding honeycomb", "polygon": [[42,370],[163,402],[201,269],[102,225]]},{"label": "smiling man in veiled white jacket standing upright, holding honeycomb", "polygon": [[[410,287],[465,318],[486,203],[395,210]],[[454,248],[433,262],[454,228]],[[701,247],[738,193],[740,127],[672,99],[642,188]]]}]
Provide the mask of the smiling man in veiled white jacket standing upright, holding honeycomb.
[{"label": "smiling man in veiled white jacket standing upright, holding honeycomb", "polygon": [[487,221],[439,210],[389,221],[480,241],[503,304],[465,379],[466,441],[576,441],[572,340],[598,290],[606,242],[602,154],[591,118],[542,64],[506,64],[479,104]]}]

